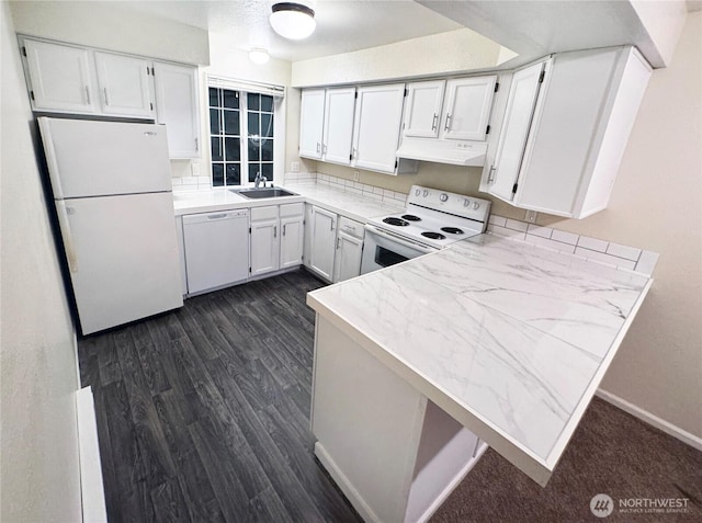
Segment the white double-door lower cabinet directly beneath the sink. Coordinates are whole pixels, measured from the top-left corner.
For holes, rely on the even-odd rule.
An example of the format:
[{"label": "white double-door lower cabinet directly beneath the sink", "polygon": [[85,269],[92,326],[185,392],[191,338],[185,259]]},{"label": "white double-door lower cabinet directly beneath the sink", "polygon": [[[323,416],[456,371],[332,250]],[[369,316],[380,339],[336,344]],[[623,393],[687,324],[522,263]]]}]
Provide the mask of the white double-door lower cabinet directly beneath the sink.
[{"label": "white double-door lower cabinet directly beneath the sink", "polygon": [[304,204],[251,209],[251,276],[302,264]]}]

